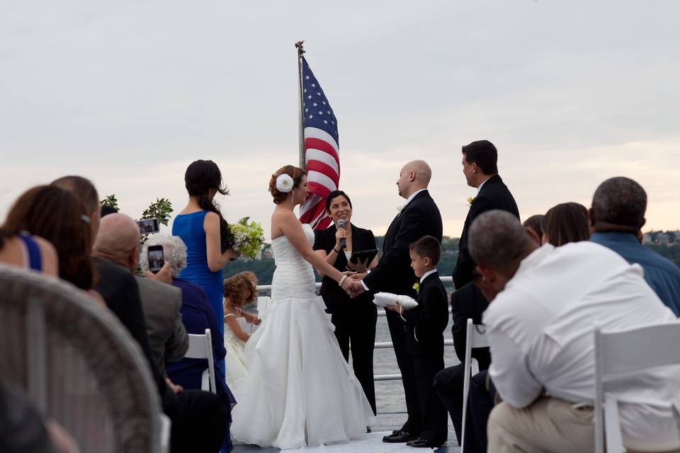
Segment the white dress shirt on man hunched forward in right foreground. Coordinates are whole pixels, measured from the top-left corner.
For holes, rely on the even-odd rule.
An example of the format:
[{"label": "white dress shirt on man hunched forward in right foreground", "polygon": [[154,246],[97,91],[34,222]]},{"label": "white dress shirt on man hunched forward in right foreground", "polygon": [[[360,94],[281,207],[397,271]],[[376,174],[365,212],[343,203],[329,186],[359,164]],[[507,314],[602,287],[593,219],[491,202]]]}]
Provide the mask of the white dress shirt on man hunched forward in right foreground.
[{"label": "white dress shirt on man hunched forward in right foreground", "polygon": [[[492,355],[489,374],[504,401],[518,408],[543,393],[594,402],[595,323],[624,329],[677,321],[639,265],[588,241],[546,244],[524,258],[483,319]],[[648,369],[617,387],[627,447],[680,447],[671,406],[680,390],[680,366]]]}]

